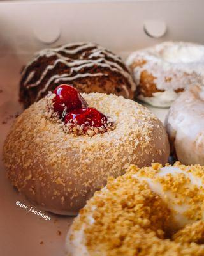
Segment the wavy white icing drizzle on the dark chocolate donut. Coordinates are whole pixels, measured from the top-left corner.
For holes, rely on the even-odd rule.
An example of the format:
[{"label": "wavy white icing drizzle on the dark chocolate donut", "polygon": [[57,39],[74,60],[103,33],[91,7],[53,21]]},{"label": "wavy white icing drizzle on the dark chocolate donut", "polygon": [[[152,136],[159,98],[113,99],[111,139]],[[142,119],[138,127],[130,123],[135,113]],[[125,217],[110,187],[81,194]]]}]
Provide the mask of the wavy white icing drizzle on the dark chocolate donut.
[{"label": "wavy white icing drizzle on the dark chocolate donut", "polygon": [[[69,49],[71,47],[75,47],[75,49]],[[90,51],[89,48],[91,47],[94,47],[94,49],[91,49]],[[87,50],[89,50],[91,54],[89,52],[89,56],[83,59],[84,55],[87,54]],[[78,60],[71,57],[64,56],[64,54],[69,54],[69,55],[79,54]],[[41,81],[43,81],[45,76],[47,76],[48,72],[50,70],[53,70],[58,63],[63,63],[64,65],[66,65],[66,67],[69,68],[69,73],[64,73],[61,76],[54,74],[52,77],[50,77],[50,79],[47,81],[45,86],[43,86],[43,88],[38,92],[37,100],[40,98],[41,93],[47,90],[47,88],[50,86],[50,83],[57,83],[61,80],[71,81],[71,80],[83,78],[83,77],[107,76],[102,72],[98,72],[95,74],[80,73],[80,70],[82,70],[82,68],[90,68],[90,67],[94,67],[94,65],[97,65],[97,67],[101,67],[101,68],[108,68],[112,72],[117,72],[121,74],[128,80],[129,84],[131,85],[131,90],[133,90],[133,92],[136,90],[136,85],[133,82],[131,75],[119,65],[119,63],[121,65],[124,65],[124,64],[122,63],[122,61],[118,56],[115,56],[111,52],[108,52],[106,49],[96,44],[85,43],[85,42],[66,44],[66,45],[62,45],[61,47],[56,47],[53,49],[44,49],[43,51],[37,52],[36,58],[31,60],[27,64],[27,66],[24,68],[22,72],[22,77],[26,75],[27,68],[30,67],[34,62],[38,61],[38,59],[43,56],[46,56],[47,58],[55,56],[56,60],[54,61],[53,65],[48,65],[45,68],[45,70],[41,72],[38,81],[36,81],[35,83],[29,83],[29,81],[31,81],[31,79],[34,76],[33,71],[27,74],[27,77],[25,78],[25,82],[24,82],[24,86],[26,88],[32,88],[32,87],[38,86],[41,83]],[[124,90],[124,86],[122,86],[122,88]],[[127,96],[129,96],[129,92],[127,88],[124,91],[126,92]]]}]

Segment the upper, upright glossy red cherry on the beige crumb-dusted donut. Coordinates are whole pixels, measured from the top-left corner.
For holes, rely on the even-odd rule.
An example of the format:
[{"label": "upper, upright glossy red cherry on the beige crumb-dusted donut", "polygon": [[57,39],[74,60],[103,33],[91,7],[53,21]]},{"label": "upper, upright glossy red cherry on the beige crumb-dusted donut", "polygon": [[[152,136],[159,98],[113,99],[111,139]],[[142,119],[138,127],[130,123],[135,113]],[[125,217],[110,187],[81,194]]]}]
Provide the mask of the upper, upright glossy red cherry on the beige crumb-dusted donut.
[{"label": "upper, upright glossy red cherry on the beige crumb-dusted donut", "polygon": [[61,84],[55,88],[54,111],[63,117],[66,112],[87,106],[87,102],[73,86]]}]

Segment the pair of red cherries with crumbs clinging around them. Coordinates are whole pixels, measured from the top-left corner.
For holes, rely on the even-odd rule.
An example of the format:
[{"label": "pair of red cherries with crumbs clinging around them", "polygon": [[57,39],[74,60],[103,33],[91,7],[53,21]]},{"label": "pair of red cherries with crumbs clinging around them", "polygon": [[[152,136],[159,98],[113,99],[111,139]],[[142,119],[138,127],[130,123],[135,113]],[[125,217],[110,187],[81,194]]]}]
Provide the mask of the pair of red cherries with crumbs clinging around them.
[{"label": "pair of red cherries with crumbs clinging around them", "polygon": [[72,86],[62,84],[54,93],[54,112],[59,113],[60,120],[64,121],[64,132],[93,136],[114,129],[113,123],[96,108],[88,107],[85,99]]}]

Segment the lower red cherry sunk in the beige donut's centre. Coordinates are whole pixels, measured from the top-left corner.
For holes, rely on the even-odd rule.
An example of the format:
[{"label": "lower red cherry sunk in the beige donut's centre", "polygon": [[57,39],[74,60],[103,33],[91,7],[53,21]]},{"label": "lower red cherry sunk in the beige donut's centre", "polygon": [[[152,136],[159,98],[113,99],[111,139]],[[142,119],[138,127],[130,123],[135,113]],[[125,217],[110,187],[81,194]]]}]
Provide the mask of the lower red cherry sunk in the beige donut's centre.
[{"label": "lower red cherry sunk in the beige donut's centre", "polygon": [[85,127],[101,127],[106,124],[108,119],[105,115],[99,112],[96,108],[79,108],[70,111],[64,118],[65,123],[72,123],[76,125],[84,124]]}]

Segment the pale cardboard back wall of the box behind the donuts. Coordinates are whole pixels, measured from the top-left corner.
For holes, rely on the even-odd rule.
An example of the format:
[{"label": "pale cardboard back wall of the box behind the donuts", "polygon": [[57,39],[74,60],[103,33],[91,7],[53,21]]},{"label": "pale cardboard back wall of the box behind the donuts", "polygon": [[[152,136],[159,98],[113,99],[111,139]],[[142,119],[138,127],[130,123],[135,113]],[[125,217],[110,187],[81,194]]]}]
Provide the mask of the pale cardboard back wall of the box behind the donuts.
[{"label": "pale cardboard back wall of the box behind the donuts", "polygon": [[[204,43],[203,0],[82,2],[0,2],[0,51],[24,54],[48,45],[92,41],[121,54],[164,40]],[[163,37],[145,34],[149,21],[166,24]]]}]

